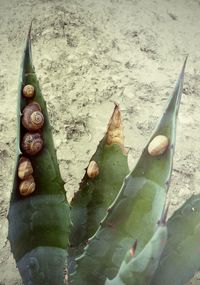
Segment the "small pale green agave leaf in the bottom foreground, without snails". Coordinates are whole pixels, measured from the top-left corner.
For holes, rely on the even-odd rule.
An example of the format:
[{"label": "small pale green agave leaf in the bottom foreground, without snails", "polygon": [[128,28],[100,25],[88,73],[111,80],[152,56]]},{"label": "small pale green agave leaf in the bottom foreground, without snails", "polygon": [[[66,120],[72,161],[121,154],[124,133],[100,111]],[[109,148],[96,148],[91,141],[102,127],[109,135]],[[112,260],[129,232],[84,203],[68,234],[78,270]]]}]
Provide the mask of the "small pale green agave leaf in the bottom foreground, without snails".
[{"label": "small pale green agave leaf in the bottom foreground, without snails", "polygon": [[135,257],[137,243],[126,253],[118,274],[105,285],[149,285],[167,242],[166,212],[158,223],[152,238]]}]

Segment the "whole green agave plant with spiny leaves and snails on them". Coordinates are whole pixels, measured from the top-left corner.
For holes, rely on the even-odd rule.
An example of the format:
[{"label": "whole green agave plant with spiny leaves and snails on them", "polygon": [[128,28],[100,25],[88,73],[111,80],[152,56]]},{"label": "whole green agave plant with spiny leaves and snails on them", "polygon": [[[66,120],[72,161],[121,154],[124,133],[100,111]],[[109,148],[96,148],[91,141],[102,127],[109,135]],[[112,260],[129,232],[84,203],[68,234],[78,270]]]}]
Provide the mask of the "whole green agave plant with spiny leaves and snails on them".
[{"label": "whole green agave plant with spiny leaves and snails on them", "polygon": [[[30,31],[21,66],[8,239],[25,285],[184,285],[200,267],[200,196],[167,221],[184,70],[132,171],[116,105],[70,204]],[[34,114],[33,114],[34,113]]]}]

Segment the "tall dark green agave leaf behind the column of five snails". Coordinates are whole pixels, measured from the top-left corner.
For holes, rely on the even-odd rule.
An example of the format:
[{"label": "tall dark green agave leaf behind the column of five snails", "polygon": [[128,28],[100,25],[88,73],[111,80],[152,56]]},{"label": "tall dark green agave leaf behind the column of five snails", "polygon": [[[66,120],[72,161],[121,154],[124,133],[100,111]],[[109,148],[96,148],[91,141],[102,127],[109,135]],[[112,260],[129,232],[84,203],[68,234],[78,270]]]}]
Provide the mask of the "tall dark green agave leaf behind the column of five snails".
[{"label": "tall dark green agave leaf behind the column of five snails", "polygon": [[[40,104],[45,123],[42,129],[44,147],[39,154],[29,157],[33,166],[36,190],[30,196],[24,197],[19,193],[20,179],[17,173],[19,159],[24,155],[21,152],[20,141],[26,132],[21,124],[21,112],[23,108],[32,101],[22,96],[22,88],[27,84],[31,84],[35,87],[35,97],[33,101]],[[56,258],[54,258],[54,274],[51,272],[51,276],[54,275],[54,283],[57,283],[58,280],[60,280],[60,277],[57,278],[59,275],[58,272],[63,270],[67,256],[66,249],[68,246],[70,224],[69,206],[57,163],[46,103],[42,97],[32,64],[30,31],[21,65],[17,101],[17,157],[8,213],[8,239],[24,284],[50,284],[48,283],[49,277],[47,276],[53,265],[52,261],[48,260],[48,252],[50,252],[50,256],[52,252],[55,252],[55,256],[60,256],[60,259],[63,261],[62,266],[58,268],[58,264],[60,266],[60,263],[56,262]],[[27,155],[25,156],[27,157]],[[45,258],[42,257],[41,254],[45,255]],[[24,259],[26,259],[25,263],[23,261]],[[31,264],[34,263],[33,260],[35,260],[34,262],[37,264],[36,271],[41,271],[44,277],[41,278],[41,283],[34,279],[36,278],[34,275],[37,274],[35,273],[36,271],[33,270],[31,273],[31,270],[29,270],[32,268]],[[42,267],[41,260],[43,260],[42,263],[46,262]],[[33,265],[33,267],[34,266],[35,265]],[[59,284],[63,283],[60,282]]]}]

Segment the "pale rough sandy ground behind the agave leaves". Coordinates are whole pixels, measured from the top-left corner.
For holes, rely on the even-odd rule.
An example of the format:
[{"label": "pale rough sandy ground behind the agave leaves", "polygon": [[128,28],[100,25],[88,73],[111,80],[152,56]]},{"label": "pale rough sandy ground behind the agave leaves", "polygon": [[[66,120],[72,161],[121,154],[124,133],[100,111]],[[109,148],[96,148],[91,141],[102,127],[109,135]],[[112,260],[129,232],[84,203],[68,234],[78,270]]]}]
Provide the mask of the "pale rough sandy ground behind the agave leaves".
[{"label": "pale rough sandy ground behind the agave leaves", "polygon": [[[139,157],[189,54],[169,199],[200,192],[199,0],[0,0],[0,284],[21,285],[7,241],[21,56],[33,59],[66,190],[77,189],[120,104],[130,166]],[[198,276],[191,284],[199,284]]]}]

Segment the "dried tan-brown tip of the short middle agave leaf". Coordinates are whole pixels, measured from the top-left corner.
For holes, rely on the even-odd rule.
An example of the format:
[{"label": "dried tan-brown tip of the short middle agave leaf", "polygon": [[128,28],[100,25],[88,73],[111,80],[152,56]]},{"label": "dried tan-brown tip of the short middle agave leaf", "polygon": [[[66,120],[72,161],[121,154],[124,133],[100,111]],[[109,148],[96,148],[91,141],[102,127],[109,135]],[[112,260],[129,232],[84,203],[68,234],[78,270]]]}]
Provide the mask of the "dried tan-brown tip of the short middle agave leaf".
[{"label": "dried tan-brown tip of the short middle agave leaf", "polygon": [[121,113],[119,106],[115,104],[115,108],[108,123],[107,133],[106,133],[106,143],[108,145],[119,144],[123,150],[124,149],[124,135],[121,124]]}]

